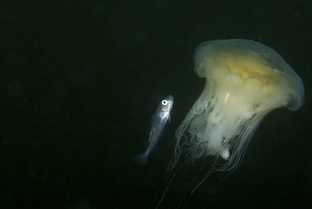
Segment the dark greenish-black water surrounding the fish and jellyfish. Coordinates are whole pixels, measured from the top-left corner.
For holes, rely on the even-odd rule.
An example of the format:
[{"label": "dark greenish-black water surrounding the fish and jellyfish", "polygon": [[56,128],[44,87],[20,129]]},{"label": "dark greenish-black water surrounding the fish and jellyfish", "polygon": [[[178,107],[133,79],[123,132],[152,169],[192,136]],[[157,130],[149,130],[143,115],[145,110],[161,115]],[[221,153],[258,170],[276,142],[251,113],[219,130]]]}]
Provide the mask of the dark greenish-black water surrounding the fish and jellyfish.
[{"label": "dark greenish-black water surrounding the fish and jellyfish", "polygon": [[[241,166],[223,182],[228,173],[212,174],[186,208],[311,206],[311,1],[2,0],[0,15],[0,208],[155,208],[165,150],[205,83],[193,51],[232,38],[277,51],[305,104],[268,114]],[[139,166],[169,94],[171,123]],[[178,172],[160,208],[178,207],[195,174]]]}]

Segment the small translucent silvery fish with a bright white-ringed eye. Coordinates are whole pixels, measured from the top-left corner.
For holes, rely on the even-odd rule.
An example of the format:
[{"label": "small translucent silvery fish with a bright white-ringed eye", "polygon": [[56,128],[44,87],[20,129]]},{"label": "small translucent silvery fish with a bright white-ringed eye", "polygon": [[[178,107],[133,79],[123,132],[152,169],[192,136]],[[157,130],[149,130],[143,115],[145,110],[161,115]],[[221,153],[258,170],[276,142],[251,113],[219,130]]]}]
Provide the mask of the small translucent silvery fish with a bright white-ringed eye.
[{"label": "small translucent silvery fish with a bright white-ringed eye", "polygon": [[173,106],[173,96],[168,95],[158,105],[156,112],[151,118],[149,139],[144,142],[145,152],[134,156],[132,159],[139,165],[145,165],[149,159],[149,154],[158,151],[158,142],[163,138],[167,120],[170,123],[170,112]]}]

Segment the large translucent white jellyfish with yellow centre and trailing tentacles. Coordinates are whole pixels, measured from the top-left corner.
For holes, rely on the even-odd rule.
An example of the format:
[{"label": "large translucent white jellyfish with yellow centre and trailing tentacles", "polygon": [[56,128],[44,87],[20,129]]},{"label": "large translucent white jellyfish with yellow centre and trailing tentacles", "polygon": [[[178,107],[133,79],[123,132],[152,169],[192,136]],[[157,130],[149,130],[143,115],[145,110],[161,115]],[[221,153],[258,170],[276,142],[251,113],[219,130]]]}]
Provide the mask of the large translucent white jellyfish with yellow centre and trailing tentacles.
[{"label": "large translucent white jellyfish with yellow centre and trailing tentacles", "polygon": [[[296,111],[303,105],[299,75],[276,51],[259,42],[207,41],[196,48],[193,61],[196,75],[205,77],[206,84],[176,130],[171,168],[183,153],[192,163],[215,157],[205,178],[214,171],[237,168],[269,112],[280,107]],[[220,164],[222,159],[225,163]]]}]

